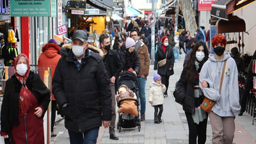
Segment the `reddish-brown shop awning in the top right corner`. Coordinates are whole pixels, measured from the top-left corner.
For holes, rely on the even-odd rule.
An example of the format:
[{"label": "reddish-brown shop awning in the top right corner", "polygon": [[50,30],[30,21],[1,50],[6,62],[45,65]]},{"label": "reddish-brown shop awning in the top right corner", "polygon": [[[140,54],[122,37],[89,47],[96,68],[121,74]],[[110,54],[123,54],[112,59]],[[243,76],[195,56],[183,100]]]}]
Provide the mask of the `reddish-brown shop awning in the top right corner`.
[{"label": "reddish-brown shop awning in the top right corner", "polygon": [[226,8],[226,14],[230,14],[235,12],[236,10],[239,10],[240,8],[243,8],[244,6],[255,2],[256,0],[229,0]]}]

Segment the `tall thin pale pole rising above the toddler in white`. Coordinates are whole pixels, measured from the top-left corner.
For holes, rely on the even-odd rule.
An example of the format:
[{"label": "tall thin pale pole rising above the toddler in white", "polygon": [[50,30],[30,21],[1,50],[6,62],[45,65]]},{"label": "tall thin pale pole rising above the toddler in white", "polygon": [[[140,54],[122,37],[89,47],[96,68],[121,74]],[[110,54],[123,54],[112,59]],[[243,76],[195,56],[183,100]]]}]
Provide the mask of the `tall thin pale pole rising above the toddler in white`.
[{"label": "tall thin pale pole rising above the toddler in white", "polygon": [[[156,15],[154,0],[152,0],[152,13]],[[151,63],[150,63],[151,65],[154,65],[155,63],[155,23],[156,23],[156,20],[152,26],[152,31],[151,31]]]}]

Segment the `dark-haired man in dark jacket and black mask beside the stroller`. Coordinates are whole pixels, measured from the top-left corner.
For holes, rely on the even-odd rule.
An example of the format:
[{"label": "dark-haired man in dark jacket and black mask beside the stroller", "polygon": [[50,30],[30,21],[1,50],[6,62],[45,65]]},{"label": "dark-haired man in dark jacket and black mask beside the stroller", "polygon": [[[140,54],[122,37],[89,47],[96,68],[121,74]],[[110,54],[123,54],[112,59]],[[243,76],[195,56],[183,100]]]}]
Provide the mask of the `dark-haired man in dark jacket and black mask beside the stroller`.
[{"label": "dark-haired man in dark jacket and black mask beside the stroller", "polygon": [[104,65],[108,72],[109,85],[111,88],[111,100],[112,100],[112,118],[109,125],[109,138],[112,140],[118,140],[118,137],[115,135],[115,122],[116,122],[116,99],[115,99],[115,81],[118,78],[123,65],[122,61],[119,58],[117,51],[110,49],[110,39],[107,34],[100,35],[100,49],[104,53]]}]

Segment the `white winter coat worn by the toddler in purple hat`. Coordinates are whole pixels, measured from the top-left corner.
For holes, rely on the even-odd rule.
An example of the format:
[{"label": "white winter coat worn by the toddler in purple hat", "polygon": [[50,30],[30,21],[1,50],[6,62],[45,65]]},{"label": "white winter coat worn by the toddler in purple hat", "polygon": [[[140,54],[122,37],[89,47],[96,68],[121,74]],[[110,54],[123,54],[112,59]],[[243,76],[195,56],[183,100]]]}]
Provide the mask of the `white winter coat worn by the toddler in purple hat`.
[{"label": "white winter coat worn by the toddler in purple hat", "polygon": [[164,96],[163,93],[166,91],[166,87],[161,86],[156,82],[150,83],[148,102],[152,101],[152,106],[157,106],[160,104],[164,104]]}]

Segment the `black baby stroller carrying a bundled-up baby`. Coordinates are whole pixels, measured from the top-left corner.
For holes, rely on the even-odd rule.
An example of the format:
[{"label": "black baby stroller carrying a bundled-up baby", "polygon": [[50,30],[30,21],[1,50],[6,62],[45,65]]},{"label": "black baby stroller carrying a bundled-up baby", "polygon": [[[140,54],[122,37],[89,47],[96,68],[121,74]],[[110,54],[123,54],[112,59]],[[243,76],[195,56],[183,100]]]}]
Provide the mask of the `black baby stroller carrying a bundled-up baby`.
[{"label": "black baby stroller carrying a bundled-up baby", "polygon": [[134,100],[136,102],[138,115],[133,116],[129,113],[118,113],[118,123],[117,129],[121,132],[121,127],[123,128],[132,128],[138,126],[138,130],[140,131],[141,124],[140,124],[140,100],[138,98],[138,79],[137,77],[129,71],[124,71],[119,77],[116,83],[116,88],[119,88],[122,84],[125,84],[132,92],[137,95],[137,99],[121,99],[117,106],[120,108],[120,104],[124,100]]}]

